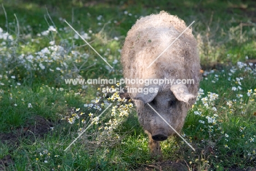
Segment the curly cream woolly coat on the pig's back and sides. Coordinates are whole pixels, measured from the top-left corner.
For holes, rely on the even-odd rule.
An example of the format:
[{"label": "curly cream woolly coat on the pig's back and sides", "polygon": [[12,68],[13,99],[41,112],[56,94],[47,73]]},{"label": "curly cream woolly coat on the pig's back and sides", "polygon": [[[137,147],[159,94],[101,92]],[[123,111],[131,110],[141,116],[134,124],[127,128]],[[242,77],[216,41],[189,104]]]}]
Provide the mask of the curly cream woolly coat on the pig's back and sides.
[{"label": "curly cream woolly coat on the pig's back and sides", "polygon": [[[194,84],[188,84],[187,87],[188,91],[196,96],[200,80],[200,64],[197,43],[191,28],[188,28],[152,66],[147,68],[186,28],[183,20],[165,11],[139,19],[127,33],[121,51],[124,77],[194,79]],[[144,85],[127,84],[127,86],[138,88]],[[170,89],[170,86],[163,85],[160,89]],[[131,97],[135,96],[136,93],[131,93]]]}]

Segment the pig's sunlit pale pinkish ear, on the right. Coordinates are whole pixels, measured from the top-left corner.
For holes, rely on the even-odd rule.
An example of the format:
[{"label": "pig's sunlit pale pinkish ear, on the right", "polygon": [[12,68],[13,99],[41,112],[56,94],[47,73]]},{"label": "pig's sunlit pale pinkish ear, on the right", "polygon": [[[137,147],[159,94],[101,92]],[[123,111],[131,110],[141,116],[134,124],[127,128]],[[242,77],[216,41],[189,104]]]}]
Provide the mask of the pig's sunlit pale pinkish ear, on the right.
[{"label": "pig's sunlit pale pinkish ear, on the right", "polygon": [[187,86],[184,84],[172,85],[170,90],[173,92],[173,95],[178,99],[178,101],[188,103],[196,98],[196,96],[192,95],[188,91]]}]

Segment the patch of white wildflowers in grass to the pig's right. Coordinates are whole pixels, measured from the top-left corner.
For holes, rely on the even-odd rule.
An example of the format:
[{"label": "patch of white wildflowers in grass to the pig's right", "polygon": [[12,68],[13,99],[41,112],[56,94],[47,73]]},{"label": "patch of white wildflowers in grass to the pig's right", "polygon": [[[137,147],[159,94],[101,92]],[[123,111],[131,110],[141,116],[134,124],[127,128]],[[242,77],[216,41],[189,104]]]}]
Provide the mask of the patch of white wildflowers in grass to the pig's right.
[{"label": "patch of white wildflowers in grass to the pig's right", "polygon": [[[196,145],[206,151],[211,147],[208,152],[211,152],[210,155],[215,155],[216,158],[225,156],[228,151],[236,150],[243,151],[247,161],[253,161],[256,158],[254,145],[256,135],[253,134],[255,128],[251,127],[249,123],[240,121],[240,117],[245,115],[252,119],[256,116],[256,89],[253,89],[255,87],[248,89],[248,84],[245,82],[248,79],[245,78],[245,73],[252,78],[255,77],[255,67],[256,65],[252,63],[238,62],[237,66],[226,72],[211,70],[204,73],[204,76],[214,80],[213,83],[226,82],[226,79],[229,81],[228,84],[225,84],[226,92],[224,93],[206,93],[199,89],[196,103],[191,109],[191,117],[195,117],[197,121],[196,131],[201,132],[195,136],[196,141],[200,140]],[[207,77],[205,78],[206,82],[208,82]],[[230,92],[228,92],[229,90]],[[230,122],[234,122],[234,125],[227,124]],[[189,138],[191,139],[191,137]],[[212,160],[215,158],[213,157]]]}]

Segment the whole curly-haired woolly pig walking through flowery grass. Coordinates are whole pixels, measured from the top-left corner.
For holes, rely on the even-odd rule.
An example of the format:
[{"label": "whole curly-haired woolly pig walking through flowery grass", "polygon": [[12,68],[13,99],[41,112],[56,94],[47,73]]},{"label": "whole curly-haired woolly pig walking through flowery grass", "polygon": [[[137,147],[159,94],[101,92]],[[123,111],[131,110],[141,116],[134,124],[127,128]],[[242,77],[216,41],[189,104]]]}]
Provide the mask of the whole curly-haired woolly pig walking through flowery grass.
[{"label": "whole curly-haired woolly pig walking through flowery grass", "polygon": [[137,80],[126,81],[126,86],[152,156],[161,156],[160,141],[176,134],[156,112],[180,132],[197,96],[200,60],[196,39],[186,28],[183,20],[165,11],[141,17],[121,50],[124,78]]}]

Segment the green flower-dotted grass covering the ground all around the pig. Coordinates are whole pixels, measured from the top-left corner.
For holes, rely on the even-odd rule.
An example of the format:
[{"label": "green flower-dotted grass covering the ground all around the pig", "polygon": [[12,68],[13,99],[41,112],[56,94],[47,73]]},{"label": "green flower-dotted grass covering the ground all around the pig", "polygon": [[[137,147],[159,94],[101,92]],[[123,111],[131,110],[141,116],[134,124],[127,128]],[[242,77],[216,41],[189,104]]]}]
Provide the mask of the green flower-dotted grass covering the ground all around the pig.
[{"label": "green flower-dotted grass covering the ground all around the pig", "polygon": [[[3,170],[134,170],[155,162],[130,102],[121,106],[118,94],[102,93],[103,86],[67,85],[63,79],[121,78],[118,61],[127,31],[140,16],[160,10],[188,25],[195,20],[203,69],[221,66],[205,69],[198,101],[183,127],[196,151],[172,137],[161,144],[164,160],[184,161],[188,170],[256,165],[256,72],[254,64],[245,63],[256,58],[252,1],[0,2],[0,137],[34,125],[35,116],[54,127],[43,137],[21,136],[15,146],[1,141],[0,160],[10,155],[13,161]],[[75,36],[65,19],[114,69]]]}]

